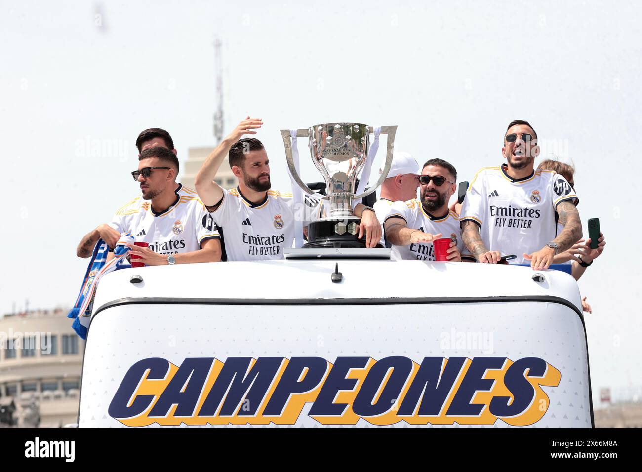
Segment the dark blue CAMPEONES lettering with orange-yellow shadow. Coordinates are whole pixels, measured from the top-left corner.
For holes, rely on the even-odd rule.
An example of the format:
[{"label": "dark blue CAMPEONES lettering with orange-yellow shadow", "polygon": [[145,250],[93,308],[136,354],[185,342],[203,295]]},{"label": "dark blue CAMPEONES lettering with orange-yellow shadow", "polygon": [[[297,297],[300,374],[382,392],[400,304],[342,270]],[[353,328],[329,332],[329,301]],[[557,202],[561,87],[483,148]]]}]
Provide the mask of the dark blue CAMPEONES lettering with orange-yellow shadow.
[{"label": "dark blue CAMPEONES lettering with orange-yellow shadow", "polygon": [[321,424],[494,424],[539,421],[560,372],[540,358],[402,356],[162,358],[125,374],[108,413],[127,426],[295,424],[306,403]]}]

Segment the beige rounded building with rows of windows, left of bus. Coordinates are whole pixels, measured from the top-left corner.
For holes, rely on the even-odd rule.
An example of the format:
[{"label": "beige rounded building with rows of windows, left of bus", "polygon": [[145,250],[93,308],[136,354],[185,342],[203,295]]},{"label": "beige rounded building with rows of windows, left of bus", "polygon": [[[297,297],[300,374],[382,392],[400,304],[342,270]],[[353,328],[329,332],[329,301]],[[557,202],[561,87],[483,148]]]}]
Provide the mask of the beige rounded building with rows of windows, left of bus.
[{"label": "beige rounded building with rows of windows, left of bus", "polygon": [[84,350],[67,310],[0,318],[0,404],[15,404],[15,425],[76,423]]}]

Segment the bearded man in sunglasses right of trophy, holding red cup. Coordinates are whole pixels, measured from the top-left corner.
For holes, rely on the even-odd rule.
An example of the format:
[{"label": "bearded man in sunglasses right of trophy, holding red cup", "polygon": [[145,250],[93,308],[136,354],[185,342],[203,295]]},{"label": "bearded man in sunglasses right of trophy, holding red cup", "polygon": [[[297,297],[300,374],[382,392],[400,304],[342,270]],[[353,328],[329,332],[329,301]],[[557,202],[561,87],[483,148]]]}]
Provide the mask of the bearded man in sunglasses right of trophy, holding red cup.
[{"label": "bearded man in sunglasses right of trophy, holding red cup", "polygon": [[456,191],[457,171],[443,159],[431,159],[424,164],[419,184],[421,202],[394,202],[383,226],[385,240],[392,245],[390,258],[434,261],[431,241],[451,238],[449,261],[461,261],[463,248],[459,218],[448,209],[448,201]]}]

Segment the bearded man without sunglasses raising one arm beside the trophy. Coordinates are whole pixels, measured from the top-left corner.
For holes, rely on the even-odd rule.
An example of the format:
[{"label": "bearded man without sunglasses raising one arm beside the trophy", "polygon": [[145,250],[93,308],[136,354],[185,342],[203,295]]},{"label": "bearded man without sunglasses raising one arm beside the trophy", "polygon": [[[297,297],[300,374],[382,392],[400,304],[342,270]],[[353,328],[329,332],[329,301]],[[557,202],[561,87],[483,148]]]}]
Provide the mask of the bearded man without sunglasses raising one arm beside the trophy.
[{"label": "bearded man without sunglasses raising one arm beside the trophy", "polygon": [[[220,228],[228,261],[282,259],[283,249],[291,247],[294,240],[292,194],[270,189],[270,162],[263,143],[252,137],[241,139],[256,134],[253,130],[262,125],[261,119],[249,116],[241,121],[207,157],[194,180],[198,196]],[[214,182],[226,155],[239,180],[238,187],[231,190]],[[361,216],[360,237],[365,232],[368,247],[375,247],[381,226],[374,211],[366,208],[357,205],[354,213]]]}]

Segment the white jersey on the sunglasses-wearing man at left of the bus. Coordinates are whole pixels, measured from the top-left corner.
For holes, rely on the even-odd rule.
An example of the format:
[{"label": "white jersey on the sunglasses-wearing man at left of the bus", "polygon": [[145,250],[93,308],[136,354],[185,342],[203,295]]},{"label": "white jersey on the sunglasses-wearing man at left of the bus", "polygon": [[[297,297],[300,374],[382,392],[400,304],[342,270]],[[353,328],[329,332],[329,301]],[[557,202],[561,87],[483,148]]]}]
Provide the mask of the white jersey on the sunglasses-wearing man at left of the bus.
[{"label": "white jersey on the sunglasses-wearing man at left of the bus", "polygon": [[176,200],[168,209],[156,213],[150,200],[139,196],[121,207],[108,224],[116,231],[132,233],[136,241],[149,243],[158,254],[191,252],[200,249],[205,240],[220,238],[196,190],[182,184],[178,184]]}]

